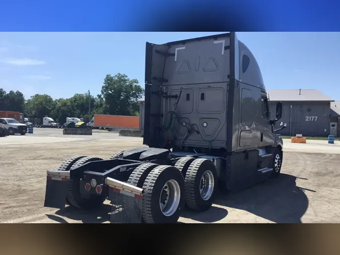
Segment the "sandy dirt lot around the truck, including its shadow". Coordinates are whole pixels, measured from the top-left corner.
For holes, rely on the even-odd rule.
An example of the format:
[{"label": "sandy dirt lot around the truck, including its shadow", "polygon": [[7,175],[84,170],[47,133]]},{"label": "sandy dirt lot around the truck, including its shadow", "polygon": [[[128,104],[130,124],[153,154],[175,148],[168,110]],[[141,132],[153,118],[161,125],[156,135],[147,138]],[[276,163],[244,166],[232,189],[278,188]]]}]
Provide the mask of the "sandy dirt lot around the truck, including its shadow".
[{"label": "sandy dirt lot around the truck, including its shadow", "polygon": [[[104,223],[111,208],[81,212],[44,208],[46,170],[57,169],[69,156],[108,159],[115,152],[142,146],[140,138],[94,133],[63,136],[61,130],[35,129],[34,134],[0,138],[0,222]],[[316,153],[310,153],[316,152]],[[220,193],[204,213],[185,210],[180,222],[267,223],[340,222],[340,145],[325,141],[285,141],[279,179],[270,179],[234,194]]]}]

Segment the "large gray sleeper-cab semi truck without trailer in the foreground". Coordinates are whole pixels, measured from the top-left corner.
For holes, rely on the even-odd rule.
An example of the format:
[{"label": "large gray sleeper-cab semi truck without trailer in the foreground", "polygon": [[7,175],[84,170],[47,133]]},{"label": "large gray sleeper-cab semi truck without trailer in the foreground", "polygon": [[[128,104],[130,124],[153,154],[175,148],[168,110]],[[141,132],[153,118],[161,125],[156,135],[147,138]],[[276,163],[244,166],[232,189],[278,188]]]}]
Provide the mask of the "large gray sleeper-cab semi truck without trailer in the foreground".
[{"label": "large gray sleeper-cab semi truck without trailer in the foreground", "polygon": [[146,43],[143,144],[110,159],[79,155],[47,170],[45,207],[112,205],[112,223],[175,223],[209,210],[218,185],[239,190],[280,176],[287,123],[235,32]]}]

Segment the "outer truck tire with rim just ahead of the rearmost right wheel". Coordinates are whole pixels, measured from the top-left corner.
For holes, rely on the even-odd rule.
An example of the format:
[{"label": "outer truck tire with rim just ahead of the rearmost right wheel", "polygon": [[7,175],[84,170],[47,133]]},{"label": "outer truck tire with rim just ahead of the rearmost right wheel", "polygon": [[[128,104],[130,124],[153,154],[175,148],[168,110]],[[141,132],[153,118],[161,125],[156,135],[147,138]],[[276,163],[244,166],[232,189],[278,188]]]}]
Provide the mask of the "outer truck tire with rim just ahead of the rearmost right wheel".
[{"label": "outer truck tire with rim just ahead of the rearmost right wheel", "polygon": [[217,170],[209,159],[195,159],[185,174],[185,202],[195,211],[210,209],[216,195]]}]

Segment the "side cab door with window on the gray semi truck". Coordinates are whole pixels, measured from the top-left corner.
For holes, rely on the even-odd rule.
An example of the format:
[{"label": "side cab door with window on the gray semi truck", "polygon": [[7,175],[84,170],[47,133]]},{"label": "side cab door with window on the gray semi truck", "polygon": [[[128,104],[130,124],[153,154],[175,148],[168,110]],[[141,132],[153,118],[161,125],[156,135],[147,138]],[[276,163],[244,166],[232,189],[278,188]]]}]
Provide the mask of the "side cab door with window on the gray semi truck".
[{"label": "side cab door with window on the gray semi truck", "polygon": [[271,131],[270,125],[270,108],[269,100],[265,93],[261,93],[261,111],[259,117],[259,129],[260,129],[260,143],[259,147],[266,147],[273,144],[274,133]]}]

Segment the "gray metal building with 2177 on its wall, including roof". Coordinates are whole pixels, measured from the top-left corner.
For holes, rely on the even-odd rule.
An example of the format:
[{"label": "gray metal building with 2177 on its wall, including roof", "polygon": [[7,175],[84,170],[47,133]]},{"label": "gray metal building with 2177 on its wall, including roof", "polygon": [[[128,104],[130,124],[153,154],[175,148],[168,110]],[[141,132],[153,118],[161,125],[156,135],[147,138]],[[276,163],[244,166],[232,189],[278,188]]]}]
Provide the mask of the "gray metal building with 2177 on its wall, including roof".
[{"label": "gray metal building with 2177 on its wall, including roof", "polygon": [[330,103],[333,99],[314,89],[267,90],[271,117],[275,118],[276,103],[282,102],[280,121],[287,122],[283,136],[302,134],[305,137],[326,137],[330,127]]}]

